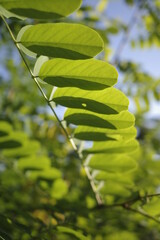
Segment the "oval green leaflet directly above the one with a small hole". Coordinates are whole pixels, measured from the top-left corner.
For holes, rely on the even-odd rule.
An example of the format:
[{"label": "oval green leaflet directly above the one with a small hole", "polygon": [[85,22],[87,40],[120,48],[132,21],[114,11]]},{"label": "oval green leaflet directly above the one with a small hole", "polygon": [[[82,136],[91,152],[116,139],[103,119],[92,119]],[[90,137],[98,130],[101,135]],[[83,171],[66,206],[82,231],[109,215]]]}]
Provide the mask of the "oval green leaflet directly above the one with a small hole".
[{"label": "oval green leaflet directly above the one with a small hole", "polygon": [[38,76],[57,87],[100,90],[113,86],[118,73],[110,64],[95,59],[52,59],[42,65]]}]

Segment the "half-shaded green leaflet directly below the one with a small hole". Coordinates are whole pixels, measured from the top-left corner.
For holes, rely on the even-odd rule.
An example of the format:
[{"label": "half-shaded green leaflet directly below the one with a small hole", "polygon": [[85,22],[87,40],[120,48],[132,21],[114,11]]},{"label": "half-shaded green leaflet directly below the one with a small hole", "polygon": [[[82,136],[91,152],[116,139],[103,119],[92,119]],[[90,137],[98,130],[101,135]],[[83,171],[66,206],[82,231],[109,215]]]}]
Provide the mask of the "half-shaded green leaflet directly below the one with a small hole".
[{"label": "half-shaded green leaflet directly below the one with a small hole", "polygon": [[[90,129],[96,132],[97,128],[99,133],[108,132],[107,129],[113,129],[116,131],[116,129],[131,127],[135,123],[133,114],[128,111],[122,111],[121,113],[114,115],[104,115],[93,113],[87,110],[67,109],[64,115],[64,120],[68,124],[71,123],[75,125],[88,126],[89,128],[80,127],[80,131],[82,128],[85,129],[84,133],[85,131],[90,132]],[[78,129],[76,130],[75,134],[80,133]],[[111,132],[114,133],[114,131]]]}]

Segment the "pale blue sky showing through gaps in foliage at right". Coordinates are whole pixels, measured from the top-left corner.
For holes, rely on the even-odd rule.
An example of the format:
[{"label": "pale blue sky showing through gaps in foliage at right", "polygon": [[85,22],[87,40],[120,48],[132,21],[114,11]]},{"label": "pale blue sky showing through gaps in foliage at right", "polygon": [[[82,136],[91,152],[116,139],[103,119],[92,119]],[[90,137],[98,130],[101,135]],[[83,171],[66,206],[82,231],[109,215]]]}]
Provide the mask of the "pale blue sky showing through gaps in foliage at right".
[{"label": "pale blue sky showing through gaps in foliage at right", "polygon": [[[120,21],[128,24],[132,18],[132,15],[135,11],[134,6],[128,6],[125,4],[124,0],[110,0],[105,11],[106,19],[117,18]],[[120,54],[120,60],[130,60],[131,62],[139,63],[141,68],[149,73],[151,76],[160,79],[160,48],[155,46],[151,48],[132,48],[130,45],[130,40],[135,39],[137,34],[139,34],[142,29],[139,27],[141,21],[141,16],[138,14],[137,22],[134,24],[130,34],[128,42],[125,44],[123,51]],[[113,35],[111,37],[111,47],[112,55],[111,59],[114,56],[115,50],[119,42],[121,41],[123,34]],[[132,111],[132,104],[130,104],[130,109]],[[151,101],[151,110],[147,113],[146,117],[160,117],[160,104],[154,101]]]}]

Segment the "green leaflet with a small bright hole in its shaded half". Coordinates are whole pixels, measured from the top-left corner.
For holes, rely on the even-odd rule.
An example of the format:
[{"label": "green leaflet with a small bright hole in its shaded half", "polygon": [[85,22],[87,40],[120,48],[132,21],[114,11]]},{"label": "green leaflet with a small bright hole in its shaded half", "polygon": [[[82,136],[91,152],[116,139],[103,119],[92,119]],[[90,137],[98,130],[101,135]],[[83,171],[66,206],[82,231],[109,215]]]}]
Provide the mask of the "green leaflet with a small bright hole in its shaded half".
[{"label": "green leaflet with a small bright hole in its shaded half", "polygon": [[69,108],[86,109],[102,114],[117,114],[128,109],[127,97],[115,88],[102,91],[85,91],[78,88],[61,88],[55,91],[55,103]]}]

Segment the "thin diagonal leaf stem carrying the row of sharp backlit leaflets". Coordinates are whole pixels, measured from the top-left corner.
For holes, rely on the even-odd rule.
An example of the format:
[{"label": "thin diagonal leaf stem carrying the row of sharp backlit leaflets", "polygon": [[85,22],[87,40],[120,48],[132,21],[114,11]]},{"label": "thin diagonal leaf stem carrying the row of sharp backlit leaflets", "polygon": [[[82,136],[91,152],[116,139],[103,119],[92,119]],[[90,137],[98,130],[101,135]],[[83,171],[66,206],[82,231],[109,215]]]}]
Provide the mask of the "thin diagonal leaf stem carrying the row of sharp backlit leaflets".
[{"label": "thin diagonal leaf stem carrying the row of sharp backlit leaflets", "polygon": [[[26,59],[25,59],[25,57],[24,57],[24,55],[23,55],[20,47],[19,47],[19,44],[17,43],[17,41],[16,41],[16,39],[15,39],[15,37],[14,37],[14,35],[13,35],[13,32],[12,32],[12,30],[10,29],[7,21],[5,20],[5,18],[4,18],[3,16],[1,16],[1,18],[2,18],[3,22],[4,22],[5,25],[6,25],[6,28],[8,29],[8,32],[9,32],[9,34],[10,34],[10,36],[11,36],[14,44],[16,45],[16,47],[17,47],[17,49],[18,49],[18,52],[19,52],[19,54],[20,54],[20,56],[21,56],[21,58],[22,58],[22,60],[23,60],[23,62],[24,62],[24,64],[25,64],[26,68],[28,69],[28,71],[29,71],[29,73],[30,73],[30,75],[31,75],[31,78],[32,78],[32,79],[34,80],[34,82],[36,83],[36,85],[37,85],[37,87],[39,88],[42,96],[44,97],[44,99],[45,99],[45,101],[46,101],[46,103],[48,104],[48,106],[49,106],[50,109],[52,110],[52,112],[53,112],[54,116],[56,117],[56,119],[57,119],[60,127],[62,128],[64,134],[66,135],[67,139],[68,139],[69,142],[71,143],[73,149],[76,151],[77,156],[79,157],[79,159],[81,160],[81,163],[82,163],[82,161],[83,161],[83,155],[82,155],[81,153],[79,153],[78,148],[77,148],[77,146],[76,146],[73,138],[70,136],[70,134],[68,133],[67,129],[63,126],[62,122],[59,120],[59,118],[58,118],[58,116],[57,116],[57,114],[56,114],[56,112],[55,112],[55,110],[54,110],[54,108],[53,108],[53,106],[52,106],[51,101],[47,98],[46,94],[44,93],[42,87],[40,86],[40,83],[39,83],[38,80],[37,80],[37,77],[34,76],[34,74],[32,73],[32,70],[30,69],[30,67],[29,67],[29,65],[28,65],[28,63],[27,63],[27,61],[26,61]],[[82,166],[83,166],[83,163],[82,163]],[[95,183],[94,183],[94,181],[93,181],[93,179],[92,179],[92,177],[91,177],[91,174],[90,174],[90,172],[89,172],[89,169],[88,169],[87,167],[85,167],[85,166],[83,166],[83,167],[84,167],[84,169],[85,169],[85,172],[86,172],[87,178],[88,178],[88,180],[89,180],[89,182],[90,182],[90,185],[91,185],[91,187],[92,187],[92,190],[93,190],[93,192],[94,192],[94,194],[95,194],[95,197],[96,197],[96,200],[97,200],[98,205],[103,204],[103,201],[102,201],[102,199],[101,199],[101,196],[99,195],[99,193],[97,193],[97,188],[96,188]]]}]

